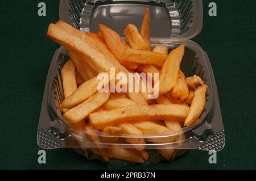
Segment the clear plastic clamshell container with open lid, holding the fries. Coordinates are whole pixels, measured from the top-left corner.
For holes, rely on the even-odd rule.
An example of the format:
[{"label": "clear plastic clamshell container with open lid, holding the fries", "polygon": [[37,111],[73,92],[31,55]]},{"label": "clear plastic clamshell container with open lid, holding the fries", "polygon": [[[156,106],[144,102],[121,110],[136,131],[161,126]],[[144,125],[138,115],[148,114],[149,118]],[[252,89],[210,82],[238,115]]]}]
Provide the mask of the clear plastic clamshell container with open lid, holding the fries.
[{"label": "clear plastic clamshell container with open lid, holding the fries", "polygon": [[[157,149],[172,149],[175,153],[170,161],[188,149],[220,151],[225,146],[217,86],[207,53],[195,42],[189,40],[200,33],[203,25],[203,5],[201,0],[155,0],[155,1],[84,1],[60,0],[60,19],[72,24],[82,32],[97,32],[97,24],[102,23],[122,35],[128,23],[141,26],[145,7],[151,12],[151,44],[166,45],[170,50],[185,45],[185,55],[181,70],[186,77],[199,75],[209,86],[207,103],[199,121],[183,132],[164,132],[158,135],[143,135],[145,144],[131,144],[127,139],[138,136],[108,136],[98,131],[79,131],[66,121],[60,111],[63,101],[61,69],[69,60],[67,49],[56,50],[49,68],[44,90],[42,110],[38,127],[38,145],[43,149],[74,148],[88,159],[103,159],[88,148],[137,148],[143,146],[150,153],[148,162],[163,160]],[[185,136],[182,141],[171,142],[172,138]],[[92,141],[95,136],[99,142]],[[160,141],[159,141],[160,140]],[[134,141],[135,142],[135,141]],[[86,148],[86,149],[85,149]]]}]

